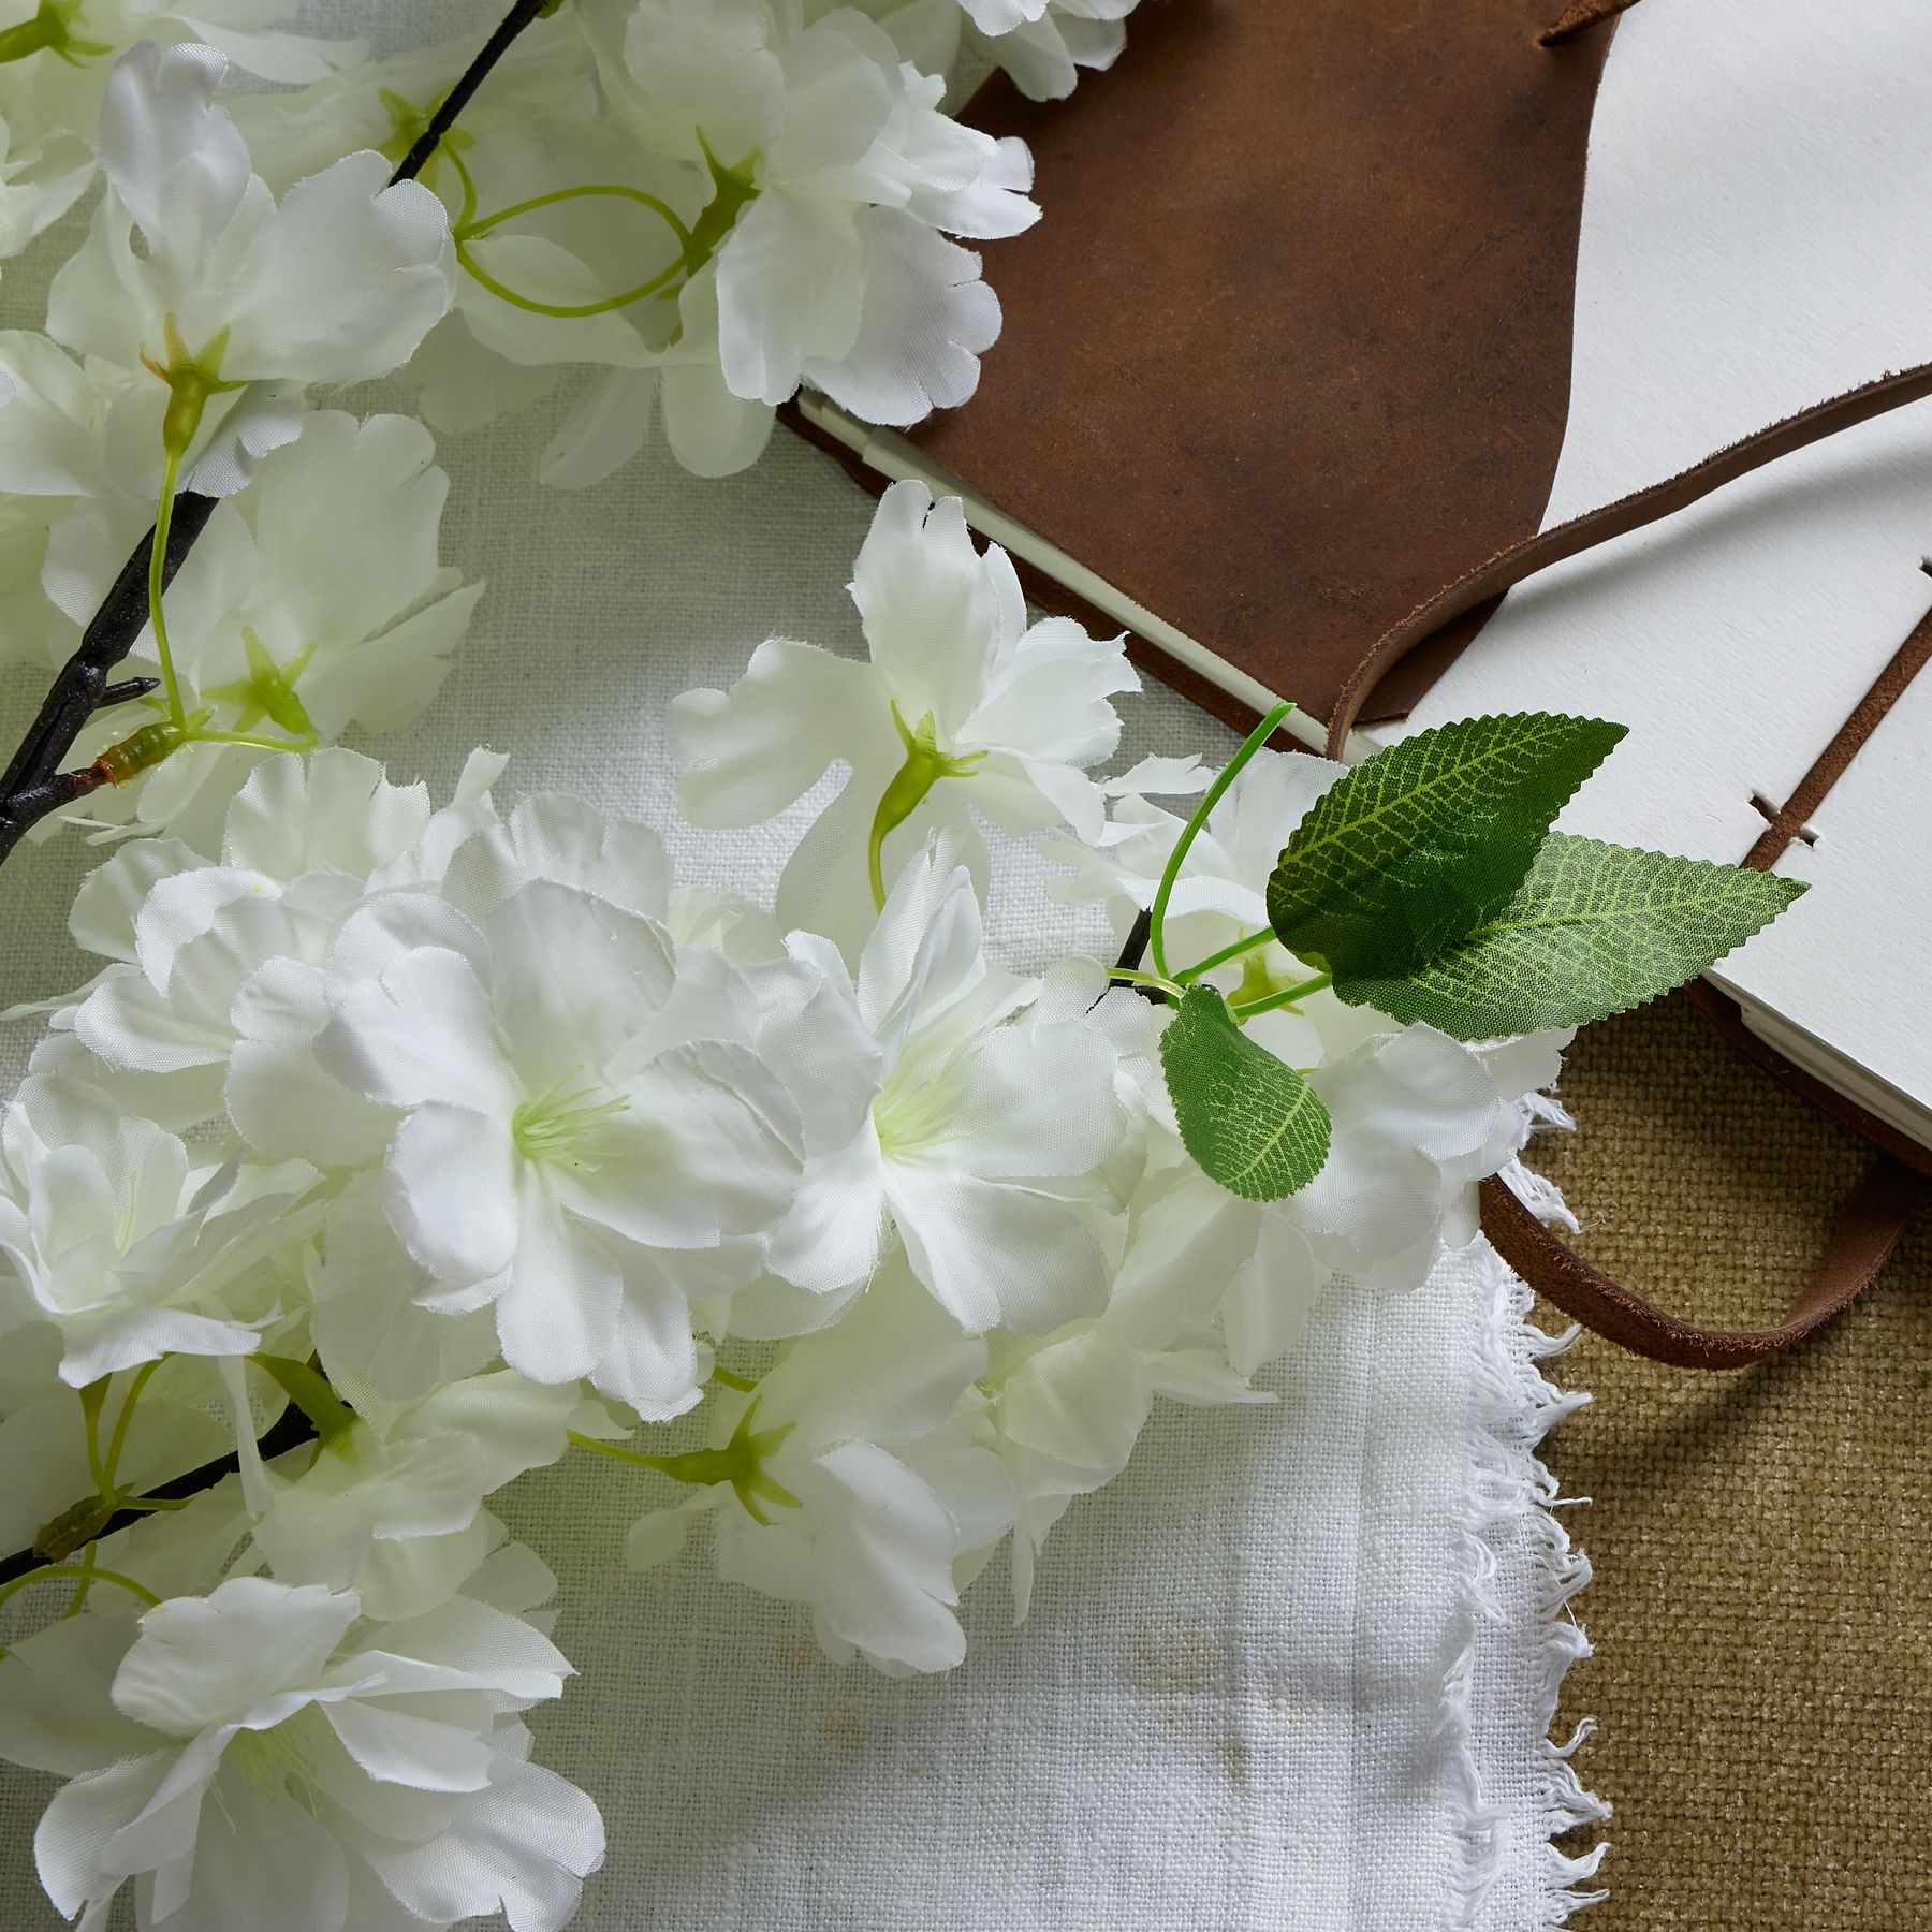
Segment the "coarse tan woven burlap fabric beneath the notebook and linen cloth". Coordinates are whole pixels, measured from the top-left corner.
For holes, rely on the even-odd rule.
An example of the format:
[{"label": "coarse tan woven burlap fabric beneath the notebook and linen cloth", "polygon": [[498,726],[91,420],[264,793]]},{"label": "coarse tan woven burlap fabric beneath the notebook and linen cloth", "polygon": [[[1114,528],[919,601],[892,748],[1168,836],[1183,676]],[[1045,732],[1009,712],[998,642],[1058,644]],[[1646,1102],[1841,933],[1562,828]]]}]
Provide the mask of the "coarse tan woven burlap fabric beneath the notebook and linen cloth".
[{"label": "coarse tan woven burlap fabric beneath the notebook and linen cloth", "polygon": [[[1538,1165],[1578,1246],[1692,1320],[1776,1320],[1864,1148],[1679,1001],[1590,1028],[1565,1068],[1580,1132]],[[1623,1928],[1932,1924],[1932,1223],[1837,1321],[1741,1374],[1584,1337],[1596,1401],[1546,1445],[1596,1565],[1596,1658],[1565,1704],[1600,1723]],[[1544,1310],[1542,1320],[1559,1320]]]}]

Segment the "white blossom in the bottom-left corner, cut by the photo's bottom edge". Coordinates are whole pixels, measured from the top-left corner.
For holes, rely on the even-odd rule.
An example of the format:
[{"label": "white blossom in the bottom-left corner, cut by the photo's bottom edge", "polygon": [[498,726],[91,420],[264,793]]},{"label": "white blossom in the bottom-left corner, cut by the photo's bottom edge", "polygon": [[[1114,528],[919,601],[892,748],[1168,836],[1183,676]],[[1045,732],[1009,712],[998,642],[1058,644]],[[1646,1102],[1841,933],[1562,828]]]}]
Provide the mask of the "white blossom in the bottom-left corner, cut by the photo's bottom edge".
[{"label": "white blossom in the bottom-left corner, cut by the photo's bottom edge", "polygon": [[526,1756],[518,1712],[570,1675],[527,1598],[529,1565],[498,1551],[400,1623],[354,1592],[234,1577],[17,1644],[0,1750],[68,1779],[35,1839],[48,1897],[87,1926],[135,1880],[143,1924],[195,1932],[497,1911],[560,1932],[603,1826]]}]

